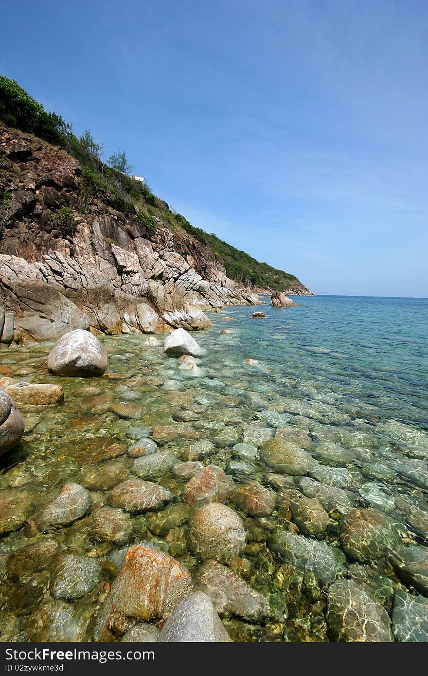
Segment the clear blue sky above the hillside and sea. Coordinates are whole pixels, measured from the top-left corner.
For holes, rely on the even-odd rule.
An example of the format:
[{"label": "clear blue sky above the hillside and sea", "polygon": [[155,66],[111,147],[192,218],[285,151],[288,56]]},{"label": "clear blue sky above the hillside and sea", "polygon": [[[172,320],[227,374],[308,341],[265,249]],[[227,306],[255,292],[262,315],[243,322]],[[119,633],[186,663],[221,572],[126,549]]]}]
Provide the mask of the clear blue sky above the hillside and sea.
[{"label": "clear blue sky above the hillside and sea", "polygon": [[426,297],[427,37],[426,0],[7,0],[0,73],[316,293]]}]

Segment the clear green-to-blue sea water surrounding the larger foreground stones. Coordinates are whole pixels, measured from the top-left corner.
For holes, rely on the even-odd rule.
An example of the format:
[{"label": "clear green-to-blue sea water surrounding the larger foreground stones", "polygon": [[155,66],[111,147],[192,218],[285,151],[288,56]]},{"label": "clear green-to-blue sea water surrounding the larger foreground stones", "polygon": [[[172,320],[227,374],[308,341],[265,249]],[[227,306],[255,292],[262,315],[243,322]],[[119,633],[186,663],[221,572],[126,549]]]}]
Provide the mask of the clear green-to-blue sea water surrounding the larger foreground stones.
[{"label": "clear green-to-blue sea water surrounding the larger foreground stones", "polygon": [[[128,478],[133,459],[126,450],[135,441],[130,429],[136,425],[167,426],[167,431],[155,431],[156,443],[182,460],[189,458],[196,439],[210,439],[215,451],[201,460],[203,464],[220,466],[237,484],[257,479],[276,493],[277,508],[264,518],[250,518],[228,503],[241,514],[250,533],[243,558],[230,565],[266,596],[271,608],[262,623],[234,616],[224,619],[237,640],[331,638],[324,585],[308,579],[304,566],[290,566],[266,546],[276,529],[299,534],[287,491],[300,491],[301,477],[283,475],[281,489],[281,477],[272,477],[272,468],[264,462],[254,464],[237,456],[233,446],[240,441],[261,446],[264,439],[286,429],[321,467],[309,473],[314,481],[341,487],[354,508],[375,508],[394,518],[404,544],[427,546],[428,300],[318,296],[297,301],[298,308],[256,308],[266,314],[260,320],[251,318],[254,308],[247,306],[210,315],[213,328],[195,335],[207,351],[198,360],[201,377],[189,376],[178,368],[177,360],[166,358],[162,340],[158,347],[147,347],[141,335],[103,339],[112,378],[55,378],[46,370],[46,345],[0,353],[0,366],[11,368],[8,375],[14,381],[60,383],[66,393],[64,404],[23,410],[24,440],[3,459],[0,489],[18,488],[32,500],[28,523],[0,538],[3,640],[49,637],[33,627],[39,626],[51,602],[58,552],[85,554],[101,563],[99,583],[67,602],[80,627],[76,638],[90,639],[106,585],[116,575],[120,547],[93,537],[93,513],[108,504],[111,487],[94,488],[88,477],[114,462],[117,483]],[[226,316],[237,321],[223,320]],[[231,333],[221,335],[222,329]],[[249,359],[257,363],[246,364]],[[85,391],[87,387],[99,391]],[[133,419],[110,410],[117,402],[129,407]],[[197,420],[174,420],[189,411]],[[118,448],[112,452],[113,444]],[[338,479],[329,468],[342,468],[347,474]],[[185,481],[170,471],[150,480],[172,490],[181,501]],[[67,481],[91,485],[91,511],[69,527],[39,533],[38,514]],[[153,518],[153,513],[133,516],[127,544],[149,541],[169,550],[196,575],[200,562],[187,551],[186,524],[159,536]],[[330,510],[329,526],[316,539],[341,548],[343,518]],[[16,561],[20,549],[48,536],[58,547],[49,564],[37,571],[29,564],[26,571],[24,562],[22,575],[11,575],[11,556]],[[309,536],[300,533],[300,537]],[[347,555],[345,575],[368,583],[389,614],[397,589],[414,592],[396,577],[385,557],[367,566]]]}]

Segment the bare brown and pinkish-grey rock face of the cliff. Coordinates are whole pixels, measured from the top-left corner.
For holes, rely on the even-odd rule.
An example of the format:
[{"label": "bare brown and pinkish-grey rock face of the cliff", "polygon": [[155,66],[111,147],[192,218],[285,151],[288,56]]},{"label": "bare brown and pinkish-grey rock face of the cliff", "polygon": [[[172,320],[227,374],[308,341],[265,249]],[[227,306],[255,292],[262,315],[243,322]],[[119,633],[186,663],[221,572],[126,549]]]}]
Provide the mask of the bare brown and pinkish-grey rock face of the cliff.
[{"label": "bare brown and pinkish-grey rock face of the cliff", "polygon": [[0,124],[1,341],[204,329],[203,309],[260,302],[208,246],[153,220],[88,197],[74,158]]}]

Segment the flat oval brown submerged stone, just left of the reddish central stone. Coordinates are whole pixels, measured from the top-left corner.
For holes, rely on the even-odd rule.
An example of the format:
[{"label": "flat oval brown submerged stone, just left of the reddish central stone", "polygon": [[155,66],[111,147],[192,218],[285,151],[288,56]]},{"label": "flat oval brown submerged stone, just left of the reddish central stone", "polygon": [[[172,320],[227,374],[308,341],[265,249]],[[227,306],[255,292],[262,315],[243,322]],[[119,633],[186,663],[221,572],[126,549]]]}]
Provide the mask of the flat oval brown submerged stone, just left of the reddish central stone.
[{"label": "flat oval brown submerged stone, just left of the reddish central stone", "polygon": [[162,509],[167,502],[173,499],[174,496],[170,491],[156,483],[141,481],[141,479],[128,479],[112,489],[109,504],[136,514]]}]

